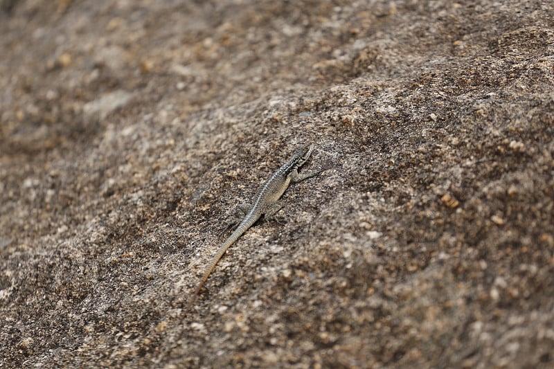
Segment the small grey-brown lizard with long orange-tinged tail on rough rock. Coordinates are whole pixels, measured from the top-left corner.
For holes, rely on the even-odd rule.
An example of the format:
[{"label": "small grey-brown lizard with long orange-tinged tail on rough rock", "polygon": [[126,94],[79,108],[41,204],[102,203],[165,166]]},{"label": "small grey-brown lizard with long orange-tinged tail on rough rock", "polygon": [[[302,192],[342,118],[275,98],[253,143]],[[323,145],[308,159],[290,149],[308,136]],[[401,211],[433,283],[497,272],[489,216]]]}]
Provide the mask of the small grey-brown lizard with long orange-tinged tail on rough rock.
[{"label": "small grey-brown lizard with long orange-tinged tail on rough rock", "polygon": [[292,154],[289,161],[274,172],[274,174],[272,174],[271,177],[269,177],[269,179],[267,179],[267,181],[265,181],[265,183],[260,187],[260,190],[258,190],[258,193],[253,200],[253,204],[239,204],[237,206],[237,212],[242,216],[242,220],[237,222],[237,228],[233,233],[231,233],[222,246],[220,246],[215,258],[212,259],[208,268],[204,272],[202,280],[200,280],[198,287],[196,287],[193,292],[193,296],[190,298],[190,302],[185,310],[186,312],[193,307],[200,290],[204,287],[206,280],[208,280],[208,277],[215,269],[215,265],[220,261],[227,249],[229,249],[229,247],[231,247],[231,245],[234,244],[240,236],[244,235],[244,233],[248,231],[248,229],[253,226],[253,224],[256,223],[260,217],[262,217],[262,215],[264,215],[267,219],[283,207],[278,200],[281,195],[283,195],[285,190],[289,188],[290,183],[303,181],[304,179],[314,177],[316,174],[323,171],[323,169],[320,169],[303,174],[298,173],[298,168],[304,165],[307,159],[310,158],[312,150],[314,150],[313,144],[298,147],[294,151],[294,154]]}]

